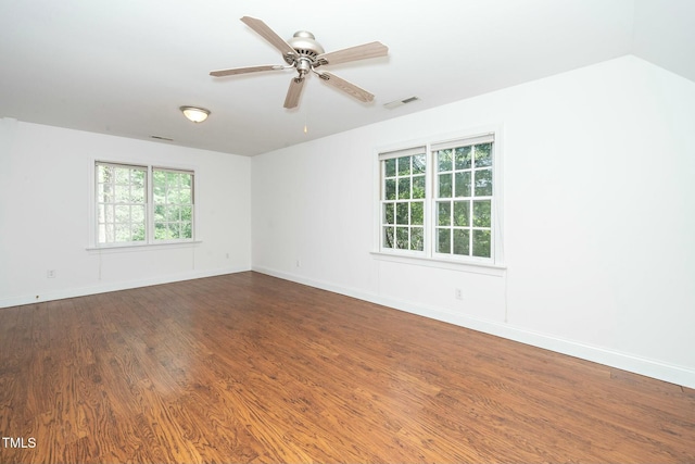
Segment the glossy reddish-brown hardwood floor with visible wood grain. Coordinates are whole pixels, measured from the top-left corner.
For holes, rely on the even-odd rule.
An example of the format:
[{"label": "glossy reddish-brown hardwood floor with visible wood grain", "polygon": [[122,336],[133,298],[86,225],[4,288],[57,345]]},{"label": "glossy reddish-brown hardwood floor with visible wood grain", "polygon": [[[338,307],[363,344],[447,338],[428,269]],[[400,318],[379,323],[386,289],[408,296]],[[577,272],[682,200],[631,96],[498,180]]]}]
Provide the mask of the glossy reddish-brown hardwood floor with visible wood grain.
[{"label": "glossy reddish-brown hardwood floor with visible wood grain", "polygon": [[0,434],[2,463],[695,462],[695,391],[240,273],[0,310]]}]

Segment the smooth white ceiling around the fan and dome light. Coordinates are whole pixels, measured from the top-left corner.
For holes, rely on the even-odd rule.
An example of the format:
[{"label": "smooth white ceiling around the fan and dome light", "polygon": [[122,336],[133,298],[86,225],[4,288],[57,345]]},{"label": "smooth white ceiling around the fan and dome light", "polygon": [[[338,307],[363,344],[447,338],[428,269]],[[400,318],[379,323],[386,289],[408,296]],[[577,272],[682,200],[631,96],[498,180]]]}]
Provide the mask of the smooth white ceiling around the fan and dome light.
[{"label": "smooth white ceiling around the fan and dome light", "polygon": [[[244,15],[326,51],[380,40],[326,66],[375,101],[311,76],[286,110],[291,71],[211,77],[282,64]],[[0,0],[0,117],[254,155],[630,53],[695,80],[694,24],[692,0]]]}]

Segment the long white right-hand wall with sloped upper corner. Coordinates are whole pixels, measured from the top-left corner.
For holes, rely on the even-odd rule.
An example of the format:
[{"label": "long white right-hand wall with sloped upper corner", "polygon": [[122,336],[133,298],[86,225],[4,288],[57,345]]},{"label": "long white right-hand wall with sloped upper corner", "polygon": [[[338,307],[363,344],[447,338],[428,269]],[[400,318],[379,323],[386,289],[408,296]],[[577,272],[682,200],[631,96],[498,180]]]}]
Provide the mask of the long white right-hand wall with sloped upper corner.
[{"label": "long white right-hand wall with sloped upper corner", "polygon": [[[506,271],[372,256],[376,148],[488,124]],[[695,83],[624,57],[255,156],[253,267],[695,387],[693,127]]]}]

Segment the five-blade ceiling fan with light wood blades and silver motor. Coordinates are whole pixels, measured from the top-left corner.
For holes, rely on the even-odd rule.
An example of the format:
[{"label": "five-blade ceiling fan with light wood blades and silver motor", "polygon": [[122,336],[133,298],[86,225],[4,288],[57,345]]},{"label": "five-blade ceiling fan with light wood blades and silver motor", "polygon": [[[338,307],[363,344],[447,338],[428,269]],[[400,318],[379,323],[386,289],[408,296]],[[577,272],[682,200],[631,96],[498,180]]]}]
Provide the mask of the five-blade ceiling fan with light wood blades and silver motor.
[{"label": "five-blade ceiling fan with light wood blades and silver motor", "polygon": [[375,41],[364,43],[356,47],[350,47],[342,50],[326,53],[324,48],[316,41],[314,35],[306,30],[300,30],[289,40],[283,40],[273,29],[270,29],[263,21],[255,17],[243,16],[241,21],[261,37],[266,39],[273,47],[282,53],[282,58],[287,65],[261,65],[249,67],[236,67],[231,70],[213,71],[210,73],[214,77],[232,76],[236,74],[257,73],[263,71],[278,71],[295,68],[298,76],[290,81],[287,97],[285,98],[285,108],[291,109],[299,104],[304,80],[309,72],[313,72],[321,78],[326,84],[344,91],[345,93],[356,98],[363,102],[374,100],[374,95],[356,85],[342,79],[334,74],[328,72],[316,71],[319,66],[329,64],[348,63],[351,61],[366,60],[368,58],[386,57],[389,48],[381,42]]}]

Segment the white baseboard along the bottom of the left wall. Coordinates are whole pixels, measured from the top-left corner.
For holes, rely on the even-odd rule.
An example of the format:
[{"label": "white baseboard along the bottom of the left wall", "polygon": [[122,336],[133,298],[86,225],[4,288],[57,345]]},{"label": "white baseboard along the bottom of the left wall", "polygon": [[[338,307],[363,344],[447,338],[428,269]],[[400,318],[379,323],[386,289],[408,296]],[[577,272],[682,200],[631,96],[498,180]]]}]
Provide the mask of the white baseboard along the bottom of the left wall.
[{"label": "white baseboard along the bottom of the left wall", "polygon": [[46,301],[64,300],[66,298],[85,297],[88,294],[105,293],[108,291],[128,290],[131,288],[150,287],[153,285],[172,284],[175,281],[192,280],[197,278],[214,277],[225,274],[235,274],[244,271],[251,271],[249,267],[223,267],[210,271],[194,271],[184,274],[175,274],[168,276],[157,276],[148,279],[124,280],[113,283],[100,283],[94,286],[67,288],[55,291],[49,291],[40,294],[25,294],[20,297],[11,297],[0,299],[0,309],[21,306],[24,304],[42,303]]}]

